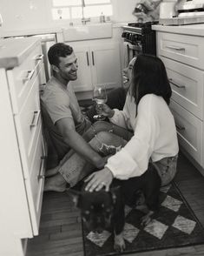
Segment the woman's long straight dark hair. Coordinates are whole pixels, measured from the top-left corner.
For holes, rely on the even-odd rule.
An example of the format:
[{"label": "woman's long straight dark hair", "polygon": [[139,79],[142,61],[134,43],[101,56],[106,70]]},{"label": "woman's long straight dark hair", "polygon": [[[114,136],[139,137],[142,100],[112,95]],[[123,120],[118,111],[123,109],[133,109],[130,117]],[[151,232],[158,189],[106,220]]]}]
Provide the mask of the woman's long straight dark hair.
[{"label": "woman's long straight dark hair", "polygon": [[130,94],[138,106],[141,98],[151,93],[164,98],[167,104],[170,103],[172,91],[163,62],[159,57],[141,54],[136,57],[133,67]]}]

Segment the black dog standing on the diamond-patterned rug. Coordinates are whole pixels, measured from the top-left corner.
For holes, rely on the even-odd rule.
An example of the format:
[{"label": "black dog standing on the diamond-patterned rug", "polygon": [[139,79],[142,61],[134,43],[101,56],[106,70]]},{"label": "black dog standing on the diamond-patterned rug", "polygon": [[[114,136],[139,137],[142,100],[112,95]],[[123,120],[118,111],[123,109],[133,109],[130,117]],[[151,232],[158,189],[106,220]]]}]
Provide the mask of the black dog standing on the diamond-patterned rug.
[{"label": "black dog standing on the diamond-patterned rug", "polygon": [[102,232],[112,228],[115,235],[115,251],[122,252],[125,242],[122,237],[124,228],[124,201],[127,205],[144,212],[141,225],[146,226],[151,216],[158,210],[161,178],[153,165],[140,177],[128,180],[114,179],[110,191],[87,192],[82,185],[81,191],[69,190],[76,206],[82,212],[82,219],[89,231]]}]

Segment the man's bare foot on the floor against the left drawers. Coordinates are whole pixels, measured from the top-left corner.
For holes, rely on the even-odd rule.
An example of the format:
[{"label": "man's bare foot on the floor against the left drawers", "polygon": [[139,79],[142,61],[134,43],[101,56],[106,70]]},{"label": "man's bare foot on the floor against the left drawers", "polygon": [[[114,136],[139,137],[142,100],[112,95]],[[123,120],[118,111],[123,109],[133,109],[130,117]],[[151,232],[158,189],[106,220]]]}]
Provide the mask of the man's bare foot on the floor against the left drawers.
[{"label": "man's bare foot on the floor against the left drawers", "polygon": [[64,192],[66,190],[66,185],[66,180],[63,179],[63,176],[60,173],[58,173],[51,178],[45,179],[44,192]]}]

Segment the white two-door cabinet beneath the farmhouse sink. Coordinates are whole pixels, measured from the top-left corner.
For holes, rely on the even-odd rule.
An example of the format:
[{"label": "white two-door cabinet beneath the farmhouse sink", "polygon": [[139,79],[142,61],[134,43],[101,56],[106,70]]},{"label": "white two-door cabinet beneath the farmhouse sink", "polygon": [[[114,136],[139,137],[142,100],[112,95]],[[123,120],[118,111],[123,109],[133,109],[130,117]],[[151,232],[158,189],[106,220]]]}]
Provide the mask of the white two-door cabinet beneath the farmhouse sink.
[{"label": "white two-door cabinet beneath the farmhouse sink", "polygon": [[105,84],[108,89],[121,86],[119,44],[116,42],[84,44],[70,43],[78,59],[78,78],[71,82],[75,91],[92,91]]}]

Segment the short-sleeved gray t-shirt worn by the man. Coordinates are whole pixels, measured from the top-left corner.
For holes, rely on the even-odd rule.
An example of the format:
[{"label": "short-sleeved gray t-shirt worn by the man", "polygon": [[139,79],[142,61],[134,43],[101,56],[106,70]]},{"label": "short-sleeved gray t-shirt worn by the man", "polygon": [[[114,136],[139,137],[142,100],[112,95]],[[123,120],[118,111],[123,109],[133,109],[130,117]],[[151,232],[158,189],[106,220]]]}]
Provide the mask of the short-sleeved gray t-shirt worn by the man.
[{"label": "short-sleeved gray t-shirt worn by the man", "polygon": [[51,77],[46,84],[41,100],[43,108],[49,113],[52,121],[46,118],[45,125],[48,127],[50,136],[55,141],[54,144],[56,147],[59,148],[59,151],[63,151],[62,154],[60,153],[60,158],[62,158],[63,154],[69,151],[69,146],[63,142],[62,135],[57,131],[56,122],[62,118],[72,118],[76,126],[76,131],[80,135],[88,129],[90,123],[82,114],[75,92],[71,86],[68,84],[66,88],[56,77]]}]

